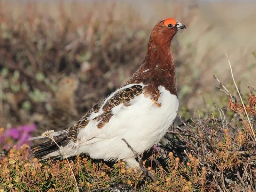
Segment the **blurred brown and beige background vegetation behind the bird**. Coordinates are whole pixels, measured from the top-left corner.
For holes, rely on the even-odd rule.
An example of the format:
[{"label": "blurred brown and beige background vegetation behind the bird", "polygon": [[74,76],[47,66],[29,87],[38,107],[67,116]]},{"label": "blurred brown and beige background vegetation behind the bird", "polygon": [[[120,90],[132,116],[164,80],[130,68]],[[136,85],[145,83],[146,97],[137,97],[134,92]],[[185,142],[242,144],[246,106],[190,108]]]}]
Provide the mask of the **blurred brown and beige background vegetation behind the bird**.
[{"label": "blurred brown and beige background vegetation behind the bird", "polygon": [[[6,146],[66,129],[125,83],[143,61],[153,26],[186,25],[172,42],[179,111],[221,104],[216,75],[256,85],[255,1],[0,1],[0,127]],[[227,86],[229,87],[229,86]]]}]

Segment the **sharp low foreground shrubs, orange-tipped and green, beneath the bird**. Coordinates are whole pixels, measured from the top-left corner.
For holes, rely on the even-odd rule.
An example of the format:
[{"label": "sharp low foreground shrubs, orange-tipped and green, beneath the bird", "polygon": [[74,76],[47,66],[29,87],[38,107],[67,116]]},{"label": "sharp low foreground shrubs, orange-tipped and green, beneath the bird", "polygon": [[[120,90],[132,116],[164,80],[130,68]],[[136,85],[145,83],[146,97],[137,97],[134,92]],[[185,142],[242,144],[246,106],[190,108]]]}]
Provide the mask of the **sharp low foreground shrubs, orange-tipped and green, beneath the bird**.
[{"label": "sharp low foreground shrubs, orange-tipped and green, beneath the bird", "polygon": [[[254,191],[255,88],[245,103],[253,130],[237,97],[222,83],[219,88],[229,95],[226,106],[188,120],[180,117],[181,125],[169,131],[166,142],[144,154],[142,165],[155,181],[142,170],[126,169],[125,162],[82,155],[69,159],[80,191]],[[0,161],[2,191],[76,190],[67,160],[29,159],[29,147],[23,145],[3,151]]]}]

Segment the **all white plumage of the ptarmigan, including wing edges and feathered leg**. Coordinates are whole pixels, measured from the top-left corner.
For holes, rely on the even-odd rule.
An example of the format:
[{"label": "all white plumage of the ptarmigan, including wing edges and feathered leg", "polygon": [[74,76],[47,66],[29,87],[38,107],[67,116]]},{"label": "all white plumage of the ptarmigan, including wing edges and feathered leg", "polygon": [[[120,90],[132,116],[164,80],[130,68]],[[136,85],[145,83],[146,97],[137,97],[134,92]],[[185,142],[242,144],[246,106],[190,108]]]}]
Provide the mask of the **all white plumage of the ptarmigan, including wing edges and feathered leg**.
[{"label": "all white plumage of the ptarmigan, including wing edges and feathered leg", "polygon": [[[121,89],[132,85],[134,84]],[[97,128],[96,120],[92,120],[96,117],[95,115],[101,114],[102,109],[99,110],[99,113],[90,115],[91,121],[87,127],[78,132],[80,141],[75,144],[70,142],[64,147],[67,156],[88,153],[94,159],[122,159],[130,167],[139,167],[133,152],[122,141],[122,138],[125,138],[136,152],[143,153],[158,143],[166,134],[176,117],[178,98],[176,95],[170,94],[163,86],[159,86],[159,91],[158,103],[161,104],[161,107],[155,105],[149,97],[141,94],[130,100],[130,106],[121,104],[113,107],[114,115],[102,129]],[[141,140],[141,138],[146,139]],[[49,155],[56,156],[59,153],[59,151],[55,151]]]}]

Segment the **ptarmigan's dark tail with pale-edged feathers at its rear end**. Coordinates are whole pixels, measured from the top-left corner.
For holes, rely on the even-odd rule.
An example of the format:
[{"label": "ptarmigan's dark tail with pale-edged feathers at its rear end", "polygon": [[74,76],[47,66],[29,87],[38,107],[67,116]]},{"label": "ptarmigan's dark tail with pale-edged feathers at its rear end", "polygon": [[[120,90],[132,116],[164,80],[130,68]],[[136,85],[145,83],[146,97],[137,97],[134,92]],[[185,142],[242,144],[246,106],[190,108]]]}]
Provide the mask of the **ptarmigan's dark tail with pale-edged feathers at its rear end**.
[{"label": "ptarmigan's dark tail with pale-edged feathers at its rear end", "polygon": [[[46,136],[29,138],[28,140],[33,140],[35,143],[37,143],[30,147],[33,157],[39,158],[40,160],[47,159],[48,157],[62,157],[63,154],[61,153],[59,146],[64,147],[70,142],[70,140],[67,138],[66,131],[58,131],[54,133],[52,138],[58,145],[56,145],[52,139]],[[45,139],[47,140],[43,142]]]}]

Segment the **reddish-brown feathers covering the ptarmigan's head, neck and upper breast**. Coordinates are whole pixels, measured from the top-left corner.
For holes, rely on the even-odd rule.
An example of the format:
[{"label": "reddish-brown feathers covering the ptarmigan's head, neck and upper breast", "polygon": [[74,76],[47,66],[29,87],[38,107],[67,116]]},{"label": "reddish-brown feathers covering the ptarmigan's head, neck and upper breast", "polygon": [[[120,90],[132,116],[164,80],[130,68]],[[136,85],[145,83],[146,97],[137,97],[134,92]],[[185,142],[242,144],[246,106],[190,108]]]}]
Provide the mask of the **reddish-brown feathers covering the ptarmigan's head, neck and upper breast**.
[{"label": "reddish-brown feathers covering the ptarmigan's head, neck and upper breast", "polygon": [[[170,20],[170,19],[169,19]],[[158,87],[164,86],[171,94],[177,95],[175,66],[171,55],[171,40],[177,33],[176,25],[167,27],[161,21],[155,25],[148,46],[148,51],[139,69],[134,73],[128,83],[143,83],[145,95],[157,103],[159,97]],[[172,20],[174,21],[174,20]]]}]

